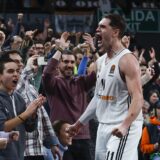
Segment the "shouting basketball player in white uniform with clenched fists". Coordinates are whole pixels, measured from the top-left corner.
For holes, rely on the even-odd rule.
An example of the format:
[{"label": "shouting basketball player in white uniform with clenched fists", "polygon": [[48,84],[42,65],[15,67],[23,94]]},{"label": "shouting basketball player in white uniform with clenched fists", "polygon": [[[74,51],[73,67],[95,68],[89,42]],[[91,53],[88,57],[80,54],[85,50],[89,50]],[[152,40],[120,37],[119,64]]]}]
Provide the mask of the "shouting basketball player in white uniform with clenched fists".
[{"label": "shouting basketball player in white uniform with clenched fists", "polygon": [[137,160],[142,132],[143,95],[137,59],[124,48],[121,38],[125,22],[109,14],[98,25],[100,52],[95,95],[79,120],[68,128],[76,135],[90,119],[97,117],[96,160]]}]

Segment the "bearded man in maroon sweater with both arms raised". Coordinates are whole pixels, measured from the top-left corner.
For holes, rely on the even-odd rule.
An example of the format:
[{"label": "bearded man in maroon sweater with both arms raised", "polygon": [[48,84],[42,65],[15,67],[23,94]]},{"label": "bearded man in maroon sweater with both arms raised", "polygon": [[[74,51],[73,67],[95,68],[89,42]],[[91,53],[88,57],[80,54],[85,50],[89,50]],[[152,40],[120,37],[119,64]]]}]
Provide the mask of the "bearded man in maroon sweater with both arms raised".
[{"label": "bearded man in maroon sweater with both arms raised", "polygon": [[[60,39],[64,48],[65,38]],[[62,57],[62,58],[61,58]],[[69,50],[57,51],[43,73],[43,85],[50,106],[51,121],[65,120],[74,123],[87,107],[87,92],[96,81],[96,73],[74,76],[75,57]],[[59,72],[60,71],[60,72]],[[74,137],[73,144],[64,154],[64,160],[90,160],[89,127],[86,125]]]}]

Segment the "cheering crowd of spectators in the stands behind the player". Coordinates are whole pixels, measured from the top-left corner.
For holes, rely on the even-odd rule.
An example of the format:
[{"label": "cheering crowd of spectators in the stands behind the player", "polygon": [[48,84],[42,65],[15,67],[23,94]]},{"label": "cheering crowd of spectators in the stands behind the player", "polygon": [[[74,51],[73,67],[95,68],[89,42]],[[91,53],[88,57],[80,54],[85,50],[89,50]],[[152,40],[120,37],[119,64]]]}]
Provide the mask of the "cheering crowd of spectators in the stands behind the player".
[{"label": "cheering crowd of spectators in the stands behind the player", "polygon": [[[157,8],[159,3],[132,2],[133,7],[143,8]],[[43,31],[26,30],[22,22],[23,14],[18,14],[16,25],[0,19],[0,159],[8,156],[9,160],[22,160],[24,155],[25,160],[93,160],[97,120],[73,139],[65,128],[80,117],[94,94],[96,60],[104,54],[97,50],[98,37],[81,32],[74,34],[74,40],[68,32],[55,37],[48,19]],[[124,35],[122,43],[130,48],[130,36]],[[160,155],[160,66],[156,51],[150,47],[149,61],[144,57],[145,48],[135,46],[132,50],[141,68],[144,94],[139,160]],[[12,81],[7,79],[5,67]],[[9,114],[6,104],[21,109],[10,107]]]}]

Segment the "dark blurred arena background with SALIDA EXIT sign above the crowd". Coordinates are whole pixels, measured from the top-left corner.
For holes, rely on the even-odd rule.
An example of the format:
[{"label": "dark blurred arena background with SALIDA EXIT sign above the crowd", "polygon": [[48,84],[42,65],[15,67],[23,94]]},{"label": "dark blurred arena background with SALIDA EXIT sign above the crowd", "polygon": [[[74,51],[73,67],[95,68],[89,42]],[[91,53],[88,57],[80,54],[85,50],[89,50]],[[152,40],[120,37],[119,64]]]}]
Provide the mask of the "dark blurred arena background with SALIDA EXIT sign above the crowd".
[{"label": "dark blurred arena background with SALIDA EXIT sign above the crowd", "polygon": [[98,21],[110,12],[125,18],[133,47],[145,48],[146,52],[154,47],[159,55],[159,0],[0,0],[0,24],[14,24],[17,13],[23,13],[26,30],[43,29],[48,19],[54,35],[63,31],[94,34]]}]

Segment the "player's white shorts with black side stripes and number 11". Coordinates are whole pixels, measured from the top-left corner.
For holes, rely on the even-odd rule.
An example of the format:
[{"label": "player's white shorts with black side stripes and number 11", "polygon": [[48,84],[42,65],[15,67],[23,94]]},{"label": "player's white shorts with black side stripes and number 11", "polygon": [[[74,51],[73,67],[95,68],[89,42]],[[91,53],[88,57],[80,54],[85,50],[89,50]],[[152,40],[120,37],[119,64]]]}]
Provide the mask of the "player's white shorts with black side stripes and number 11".
[{"label": "player's white shorts with black side stripes and number 11", "polygon": [[97,131],[95,160],[138,160],[138,144],[142,134],[143,121],[132,123],[123,138],[111,135],[118,125],[100,123]]}]

